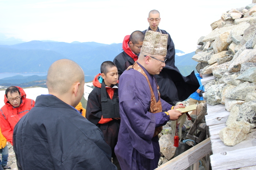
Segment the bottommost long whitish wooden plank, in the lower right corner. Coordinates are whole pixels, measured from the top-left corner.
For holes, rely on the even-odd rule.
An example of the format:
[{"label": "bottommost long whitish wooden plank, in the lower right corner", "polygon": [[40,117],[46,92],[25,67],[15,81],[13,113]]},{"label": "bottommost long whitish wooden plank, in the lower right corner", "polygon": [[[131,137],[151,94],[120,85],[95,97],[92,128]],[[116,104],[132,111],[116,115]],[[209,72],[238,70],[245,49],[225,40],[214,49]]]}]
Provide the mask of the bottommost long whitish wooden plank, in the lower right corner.
[{"label": "bottommost long whitish wooden plank, in the lower right corner", "polygon": [[212,170],[236,169],[256,165],[256,146],[210,156]]}]

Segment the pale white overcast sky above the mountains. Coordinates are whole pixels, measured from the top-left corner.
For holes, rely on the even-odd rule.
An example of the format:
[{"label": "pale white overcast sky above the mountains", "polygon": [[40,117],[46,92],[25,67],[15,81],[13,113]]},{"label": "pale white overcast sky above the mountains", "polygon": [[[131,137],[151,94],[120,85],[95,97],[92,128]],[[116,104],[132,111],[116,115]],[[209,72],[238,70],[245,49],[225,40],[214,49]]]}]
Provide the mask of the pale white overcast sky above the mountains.
[{"label": "pale white overcast sky above the mountains", "polygon": [[161,14],[159,28],[175,48],[196,50],[210,24],[231,8],[252,0],[0,0],[0,33],[24,41],[121,43],[124,36],[148,28],[148,12]]}]

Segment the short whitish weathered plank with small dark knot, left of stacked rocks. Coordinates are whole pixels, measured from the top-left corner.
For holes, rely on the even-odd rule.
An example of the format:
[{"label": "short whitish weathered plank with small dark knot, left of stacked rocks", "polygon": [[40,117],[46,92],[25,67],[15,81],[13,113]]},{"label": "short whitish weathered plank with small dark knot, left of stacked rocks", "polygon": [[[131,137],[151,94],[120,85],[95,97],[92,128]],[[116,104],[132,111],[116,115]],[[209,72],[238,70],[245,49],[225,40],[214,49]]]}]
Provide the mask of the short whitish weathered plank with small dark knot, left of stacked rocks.
[{"label": "short whitish weathered plank with small dark knot, left of stacked rocks", "polygon": [[229,117],[229,111],[219,112],[217,114],[211,114],[205,116],[207,126],[226,123],[227,117]]}]

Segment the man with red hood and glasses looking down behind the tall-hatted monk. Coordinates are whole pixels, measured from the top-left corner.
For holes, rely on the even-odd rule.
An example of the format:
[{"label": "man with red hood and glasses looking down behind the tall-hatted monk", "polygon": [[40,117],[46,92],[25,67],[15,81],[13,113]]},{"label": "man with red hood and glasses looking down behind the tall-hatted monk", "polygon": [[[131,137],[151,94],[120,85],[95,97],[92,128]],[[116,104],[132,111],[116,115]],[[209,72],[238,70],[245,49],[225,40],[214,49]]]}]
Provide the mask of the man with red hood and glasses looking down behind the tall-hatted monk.
[{"label": "man with red hood and glasses looking down behind the tall-hatted monk", "polygon": [[144,40],[144,34],[141,31],[134,31],[131,35],[126,35],[123,41],[123,52],[118,54],[113,63],[118,70],[118,78],[129,66],[138,60],[140,49]]}]

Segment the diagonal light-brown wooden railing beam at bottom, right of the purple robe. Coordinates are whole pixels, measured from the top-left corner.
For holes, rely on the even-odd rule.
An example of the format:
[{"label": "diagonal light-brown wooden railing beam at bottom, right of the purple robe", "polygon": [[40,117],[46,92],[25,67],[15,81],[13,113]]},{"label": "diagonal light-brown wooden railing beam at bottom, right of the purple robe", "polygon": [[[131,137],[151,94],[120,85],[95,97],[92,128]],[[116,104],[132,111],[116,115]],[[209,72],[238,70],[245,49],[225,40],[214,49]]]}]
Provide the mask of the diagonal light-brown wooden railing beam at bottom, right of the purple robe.
[{"label": "diagonal light-brown wooden railing beam at bottom, right of the purple robe", "polygon": [[211,140],[207,138],[196,146],[183,152],[165,164],[159,166],[157,170],[184,170],[202,159],[211,152]]}]

